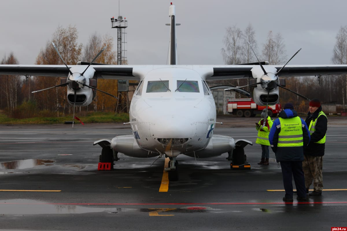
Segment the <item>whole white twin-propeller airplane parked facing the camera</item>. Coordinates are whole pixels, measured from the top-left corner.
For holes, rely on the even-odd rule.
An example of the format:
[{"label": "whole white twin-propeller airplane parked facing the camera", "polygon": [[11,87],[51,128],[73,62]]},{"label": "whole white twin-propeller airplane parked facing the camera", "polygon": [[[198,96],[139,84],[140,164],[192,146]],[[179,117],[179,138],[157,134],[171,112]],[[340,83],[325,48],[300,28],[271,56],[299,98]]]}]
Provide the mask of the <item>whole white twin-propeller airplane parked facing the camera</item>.
[{"label": "whole white twin-propeller airplane parked facing the camera", "polygon": [[[92,102],[99,78],[138,80],[129,109],[133,134],[94,145],[102,147],[101,162],[113,163],[118,152],[138,158],[169,157],[170,181],[178,180],[180,154],[208,158],[228,153],[234,165],[245,163],[244,147],[252,142],[213,134],[217,122],[211,90],[229,88],[250,95],[259,105],[272,105],[279,101],[279,88],[284,88],[278,77],[347,74],[347,65],[177,65],[175,15],[171,4],[170,65],[96,65],[100,51],[89,65],[68,66],[54,46],[65,65],[0,65],[0,74],[65,77],[58,86],[67,86],[67,99],[77,106]],[[209,88],[206,83],[237,78],[249,78],[251,92],[234,86]]]}]

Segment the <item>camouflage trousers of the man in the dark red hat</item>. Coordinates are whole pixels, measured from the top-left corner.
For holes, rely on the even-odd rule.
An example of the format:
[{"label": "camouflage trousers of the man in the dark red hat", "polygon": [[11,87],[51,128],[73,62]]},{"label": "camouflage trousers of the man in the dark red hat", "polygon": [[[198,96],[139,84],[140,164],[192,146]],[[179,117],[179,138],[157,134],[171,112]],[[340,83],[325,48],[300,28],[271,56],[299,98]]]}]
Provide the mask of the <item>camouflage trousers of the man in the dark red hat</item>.
[{"label": "camouflage trousers of the man in the dark red hat", "polygon": [[313,180],[313,190],[321,192],[323,190],[323,156],[313,157],[304,155],[303,171],[305,176],[305,186],[310,188]]}]

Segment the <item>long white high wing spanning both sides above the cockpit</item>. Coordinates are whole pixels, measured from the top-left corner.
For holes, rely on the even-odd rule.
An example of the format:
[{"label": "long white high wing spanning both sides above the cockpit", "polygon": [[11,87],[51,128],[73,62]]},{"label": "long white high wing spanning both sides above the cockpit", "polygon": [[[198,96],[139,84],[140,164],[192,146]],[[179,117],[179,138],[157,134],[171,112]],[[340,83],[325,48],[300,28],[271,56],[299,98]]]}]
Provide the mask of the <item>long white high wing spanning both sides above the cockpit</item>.
[{"label": "long white high wing spanning both sides above the cockpit", "polygon": [[[86,65],[68,65],[69,69],[84,70]],[[91,65],[98,78],[139,80],[150,70],[172,65]],[[259,65],[175,65],[198,70],[206,80],[227,80],[240,78],[255,78],[252,69]],[[265,68],[282,68],[279,65],[266,65]],[[69,72],[64,65],[0,65],[0,74],[67,77]],[[338,75],[347,74],[347,65],[287,65],[279,77]]]}]

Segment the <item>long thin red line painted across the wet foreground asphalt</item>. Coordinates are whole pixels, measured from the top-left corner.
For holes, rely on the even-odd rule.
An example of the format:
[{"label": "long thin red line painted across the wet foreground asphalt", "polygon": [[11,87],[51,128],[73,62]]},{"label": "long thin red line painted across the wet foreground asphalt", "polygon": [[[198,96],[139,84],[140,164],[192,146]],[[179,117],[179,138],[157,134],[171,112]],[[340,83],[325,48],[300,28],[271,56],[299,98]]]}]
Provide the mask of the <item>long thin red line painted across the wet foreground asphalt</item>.
[{"label": "long thin red line painted across the wet foreground asphalt", "polygon": [[347,204],[341,202],[230,202],[230,203],[6,203],[0,205],[277,205],[277,204]]}]

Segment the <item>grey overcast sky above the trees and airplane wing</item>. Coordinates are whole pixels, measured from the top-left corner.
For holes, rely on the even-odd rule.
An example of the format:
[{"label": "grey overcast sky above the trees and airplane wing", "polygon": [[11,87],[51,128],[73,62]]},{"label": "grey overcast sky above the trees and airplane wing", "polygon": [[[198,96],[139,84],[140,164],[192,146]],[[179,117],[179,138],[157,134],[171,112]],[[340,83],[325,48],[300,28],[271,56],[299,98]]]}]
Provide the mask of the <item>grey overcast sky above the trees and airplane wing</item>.
[{"label": "grey overcast sky above the trees and airplane wing", "polygon": [[[228,26],[253,26],[260,56],[269,30],[281,33],[287,57],[302,48],[289,64],[331,64],[336,34],[347,25],[347,1],[342,0],[176,0],[179,64],[224,64],[221,48]],[[169,44],[167,0],[3,0],[0,58],[10,52],[20,64],[34,64],[37,54],[58,26],[76,26],[78,42],[89,36],[114,36],[110,18],[128,20],[129,64],[166,64]]]}]

